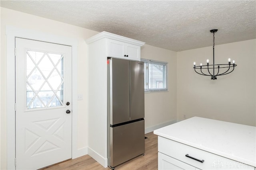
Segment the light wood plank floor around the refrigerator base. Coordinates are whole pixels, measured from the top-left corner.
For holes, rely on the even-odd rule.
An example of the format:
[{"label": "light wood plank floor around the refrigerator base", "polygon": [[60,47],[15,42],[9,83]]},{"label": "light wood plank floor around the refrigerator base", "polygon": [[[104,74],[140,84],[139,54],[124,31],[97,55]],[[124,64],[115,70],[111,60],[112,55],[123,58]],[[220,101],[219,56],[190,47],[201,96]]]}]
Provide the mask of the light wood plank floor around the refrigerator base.
[{"label": "light wood plank floor around the refrigerator base", "polygon": [[[157,135],[153,132],[147,133],[145,137],[145,155],[137,156],[132,160],[124,162],[115,167],[115,170],[157,170],[158,169],[158,147]],[[44,170],[111,170],[104,168],[89,155],[84,155],[76,159],[68,160]]]}]

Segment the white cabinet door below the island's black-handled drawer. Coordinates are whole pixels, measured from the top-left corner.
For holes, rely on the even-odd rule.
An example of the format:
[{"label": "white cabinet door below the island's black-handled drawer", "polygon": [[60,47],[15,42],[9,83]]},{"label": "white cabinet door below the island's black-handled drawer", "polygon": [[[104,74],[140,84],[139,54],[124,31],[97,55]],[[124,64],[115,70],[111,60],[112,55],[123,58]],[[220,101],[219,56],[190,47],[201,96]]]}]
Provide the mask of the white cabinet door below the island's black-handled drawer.
[{"label": "white cabinet door below the island's black-handled drawer", "polygon": [[196,167],[158,152],[158,170],[198,170]]}]

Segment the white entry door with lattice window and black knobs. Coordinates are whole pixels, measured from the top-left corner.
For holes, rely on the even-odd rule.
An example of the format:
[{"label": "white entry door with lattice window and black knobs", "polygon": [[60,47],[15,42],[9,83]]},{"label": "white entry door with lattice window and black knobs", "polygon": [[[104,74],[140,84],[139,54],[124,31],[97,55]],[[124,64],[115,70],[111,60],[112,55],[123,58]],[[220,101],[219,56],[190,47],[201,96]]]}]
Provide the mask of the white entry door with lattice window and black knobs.
[{"label": "white entry door with lattice window and black knobs", "polygon": [[30,39],[16,46],[16,169],[71,158],[72,47]]}]

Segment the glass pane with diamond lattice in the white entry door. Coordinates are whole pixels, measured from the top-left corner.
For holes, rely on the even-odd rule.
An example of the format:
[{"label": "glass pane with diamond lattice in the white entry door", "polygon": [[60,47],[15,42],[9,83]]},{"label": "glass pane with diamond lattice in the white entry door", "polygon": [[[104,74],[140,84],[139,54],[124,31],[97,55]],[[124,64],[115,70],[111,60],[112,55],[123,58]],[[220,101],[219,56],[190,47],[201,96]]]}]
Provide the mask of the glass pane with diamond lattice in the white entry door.
[{"label": "glass pane with diamond lattice in the white entry door", "polygon": [[63,106],[63,55],[26,50],[27,109]]}]

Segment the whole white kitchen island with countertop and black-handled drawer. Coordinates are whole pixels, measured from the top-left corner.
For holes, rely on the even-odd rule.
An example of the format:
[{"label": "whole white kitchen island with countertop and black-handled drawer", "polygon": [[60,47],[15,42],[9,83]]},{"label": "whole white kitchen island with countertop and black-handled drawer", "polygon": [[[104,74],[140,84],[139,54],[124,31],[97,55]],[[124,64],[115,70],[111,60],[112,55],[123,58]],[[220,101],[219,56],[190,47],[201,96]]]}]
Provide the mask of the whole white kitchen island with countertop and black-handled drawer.
[{"label": "whole white kitchen island with countertop and black-handled drawer", "polygon": [[157,129],[158,169],[256,170],[256,127],[192,117]]}]

